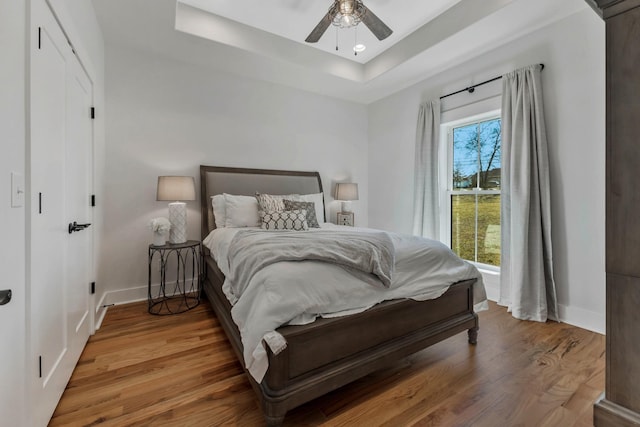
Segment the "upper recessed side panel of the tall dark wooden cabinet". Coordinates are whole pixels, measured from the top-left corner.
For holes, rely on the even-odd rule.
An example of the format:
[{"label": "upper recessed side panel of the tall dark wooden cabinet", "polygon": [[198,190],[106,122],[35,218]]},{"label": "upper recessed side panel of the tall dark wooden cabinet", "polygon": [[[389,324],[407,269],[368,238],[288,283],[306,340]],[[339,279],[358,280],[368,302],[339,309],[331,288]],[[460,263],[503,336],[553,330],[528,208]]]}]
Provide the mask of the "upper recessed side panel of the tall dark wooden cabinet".
[{"label": "upper recessed side panel of the tall dark wooden cabinet", "polygon": [[640,277],[640,7],[607,20],[607,63],[607,272]]}]

